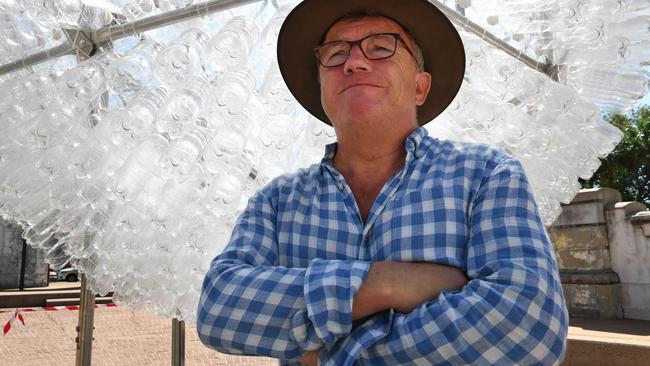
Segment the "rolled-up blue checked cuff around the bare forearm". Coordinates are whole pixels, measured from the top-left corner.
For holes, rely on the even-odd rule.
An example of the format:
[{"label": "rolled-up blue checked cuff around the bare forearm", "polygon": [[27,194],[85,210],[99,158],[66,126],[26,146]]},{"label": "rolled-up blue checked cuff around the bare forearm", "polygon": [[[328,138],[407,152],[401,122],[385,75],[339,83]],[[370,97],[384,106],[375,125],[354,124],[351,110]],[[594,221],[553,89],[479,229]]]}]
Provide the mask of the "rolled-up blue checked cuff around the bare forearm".
[{"label": "rolled-up blue checked cuff around the bare forearm", "polygon": [[352,330],[352,300],[370,262],[314,259],[304,282],[305,310],[291,320],[291,337],[305,350],[333,344]]}]

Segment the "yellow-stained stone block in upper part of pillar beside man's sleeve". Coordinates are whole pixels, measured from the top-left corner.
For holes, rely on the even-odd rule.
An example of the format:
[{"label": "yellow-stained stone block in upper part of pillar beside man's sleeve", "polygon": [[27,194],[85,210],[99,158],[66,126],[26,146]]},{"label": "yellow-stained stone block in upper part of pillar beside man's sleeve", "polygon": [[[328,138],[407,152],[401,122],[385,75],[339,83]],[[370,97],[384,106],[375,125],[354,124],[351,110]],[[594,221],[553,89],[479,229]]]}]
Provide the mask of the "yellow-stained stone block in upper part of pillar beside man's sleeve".
[{"label": "yellow-stained stone block in upper part of pillar beside man's sleeve", "polygon": [[605,249],[607,226],[551,227],[548,235],[556,250]]}]

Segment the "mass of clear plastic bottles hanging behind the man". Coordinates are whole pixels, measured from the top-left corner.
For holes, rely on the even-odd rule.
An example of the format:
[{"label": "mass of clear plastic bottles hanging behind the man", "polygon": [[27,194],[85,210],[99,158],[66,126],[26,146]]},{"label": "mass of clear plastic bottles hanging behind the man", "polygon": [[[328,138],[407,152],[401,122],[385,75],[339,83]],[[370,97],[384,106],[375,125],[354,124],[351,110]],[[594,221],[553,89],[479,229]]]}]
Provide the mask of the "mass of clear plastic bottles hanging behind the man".
[{"label": "mass of clear plastic bottles hanging behind the man", "polygon": [[[0,58],[56,44],[57,30],[189,3],[3,0]],[[598,2],[599,10],[586,0],[573,8],[567,0],[444,3],[560,67],[555,82],[460,29],[466,81],[426,126],[434,137],[489,143],[520,159],[551,224],[577,178],[591,176],[622,136],[603,112],[647,91],[629,86],[648,80],[650,57],[639,44],[650,31],[638,18],[650,18],[650,2]],[[203,275],[248,197],[318,162],[335,141],[278,70],[277,34],[295,4],[261,1],[116,41],[79,63],[0,76],[2,217],[21,223],[54,267],[71,261],[83,270],[96,292],[193,319]],[[602,33],[593,37],[596,23]],[[20,27],[41,33],[26,40]]]}]

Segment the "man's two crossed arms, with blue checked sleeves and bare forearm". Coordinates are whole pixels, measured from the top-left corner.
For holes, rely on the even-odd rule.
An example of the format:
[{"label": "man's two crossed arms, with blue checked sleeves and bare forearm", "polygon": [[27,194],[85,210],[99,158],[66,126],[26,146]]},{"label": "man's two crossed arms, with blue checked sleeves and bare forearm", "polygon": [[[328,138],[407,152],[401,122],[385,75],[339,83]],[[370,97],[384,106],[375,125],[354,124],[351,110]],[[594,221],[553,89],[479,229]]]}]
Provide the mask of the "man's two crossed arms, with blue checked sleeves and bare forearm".
[{"label": "man's two crossed arms, with blue checked sleeves and bare forearm", "polygon": [[[336,365],[341,350],[353,354],[346,362],[373,365],[557,364],[566,309],[521,167],[505,164],[484,185],[472,207],[466,284],[458,269],[431,263],[315,259],[307,268],[278,267],[274,213],[258,196],[206,275],[201,340],[285,360],[321,350],[321,363]],[[382,319],[385,309],[397,312]]]}]

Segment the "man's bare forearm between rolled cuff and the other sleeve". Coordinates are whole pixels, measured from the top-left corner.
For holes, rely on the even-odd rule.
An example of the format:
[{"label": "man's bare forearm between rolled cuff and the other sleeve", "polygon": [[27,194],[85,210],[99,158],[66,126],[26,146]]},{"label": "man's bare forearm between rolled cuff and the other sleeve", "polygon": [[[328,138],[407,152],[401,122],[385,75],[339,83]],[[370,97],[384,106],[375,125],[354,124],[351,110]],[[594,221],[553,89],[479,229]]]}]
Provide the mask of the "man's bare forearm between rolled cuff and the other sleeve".
[{"label": "man's bare forearm between rolled cuff and the other sleeve", "polygon": [[434,300],[441,291],[458,290],[467,276],[435,263],[374,262],[352,305],[352,319],[387,309],[408,313]]}]

